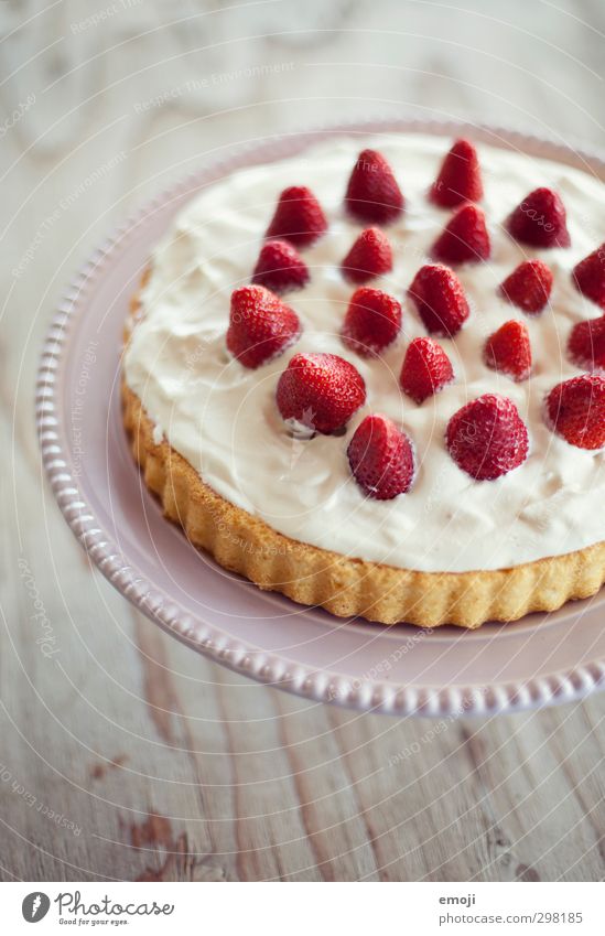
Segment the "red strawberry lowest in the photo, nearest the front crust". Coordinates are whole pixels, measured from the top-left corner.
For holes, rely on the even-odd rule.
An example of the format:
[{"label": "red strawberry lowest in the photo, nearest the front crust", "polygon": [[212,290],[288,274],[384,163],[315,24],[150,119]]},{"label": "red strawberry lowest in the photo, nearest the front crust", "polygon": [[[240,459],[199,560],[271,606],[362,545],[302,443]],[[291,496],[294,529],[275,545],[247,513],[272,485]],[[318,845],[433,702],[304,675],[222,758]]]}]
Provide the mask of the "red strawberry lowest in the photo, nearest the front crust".
[{"label": "red strawberry lowest in the photo, nearest the front crust", "polygon": [[412,443],[386,416],[366,416],[347,449],[357,484],[368,497],[392,501],[410,489],[414,474]]}]

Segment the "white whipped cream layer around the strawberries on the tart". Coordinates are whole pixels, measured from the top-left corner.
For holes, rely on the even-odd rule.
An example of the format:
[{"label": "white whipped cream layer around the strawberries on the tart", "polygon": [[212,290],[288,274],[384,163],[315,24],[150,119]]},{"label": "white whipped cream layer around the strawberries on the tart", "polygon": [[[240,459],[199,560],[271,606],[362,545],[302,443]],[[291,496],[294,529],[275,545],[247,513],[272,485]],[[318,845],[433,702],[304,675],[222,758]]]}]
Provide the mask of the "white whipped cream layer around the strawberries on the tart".
[{"label": "white whipped cream layer around the strawberries on the tart", "polygon": [[[417,406],[398,381],[409,342],[425,334],[406,291],[451,216],[426,198],[450,146],[449,139],[420,135],[331,139],[208,187],[179,215],[153,254],[125,373],[155,424],[154,440],[163,434],[218,494],[276,530],[350,557],[462,572],[508,568],[605,538],[605,453],[569,445],[551,432],[542,412],[551,387],[581,373],[565,355],[572,325],[601,314],[575,290],[570,271],[605,239],[605,187],[559,163],[477,147],[491,258],[456,270],[471,316],[454,338],[439,338],[455,381]],[[343,194],[366,147],[385,154],[406,196],[404,214],[385,228],[393,270],[368,283],[403,306],[401,335],[378,359],[358,357],[339,337],[354,291],[339,263],[363,229],[344,213]],[[302,251],[310,284],[284,297],[303,324],[301,338],[250,370],[225,347],[230,293],[249,282],[278,196],[288,185],[314,192],[329,230]],[[571,248],[536,250],[516,244],[503,228],[510,211],[541,185],[563,198]],[[505,277],[530,257],[541,257],[554,273],[550,304],[533,318],[497,293]],[[509,319],[523,321],[531,340],[532,374],[520,384],[483,362],[486,337]],[[363,375],[367,402],[346,434],[301,438],[281,419],[274,400],[278,378],[301,351],[338,354]],[[525,464],[497,481],[471,478],[444,443],[450,417],[485,392],[514,400],[530,438]],[[414,444],[413,486],[390,502],[366,497],[349,471],[348,441],[368,412],[389,416]]]}]

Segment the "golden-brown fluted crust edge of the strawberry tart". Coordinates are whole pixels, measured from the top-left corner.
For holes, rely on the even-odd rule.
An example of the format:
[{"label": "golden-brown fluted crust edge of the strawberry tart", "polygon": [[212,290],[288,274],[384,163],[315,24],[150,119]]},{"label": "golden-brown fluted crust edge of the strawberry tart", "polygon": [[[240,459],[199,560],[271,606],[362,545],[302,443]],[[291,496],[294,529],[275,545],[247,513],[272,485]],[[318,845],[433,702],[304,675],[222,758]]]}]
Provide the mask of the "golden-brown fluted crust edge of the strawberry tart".
[{"label": "golden-brown fluted crust edge of the strawberry tart", "polygon": [[[148,276],[145,271],[142,284]],[[137,295],[127,342],[138,313]],[[555,611],[566,601],[595,594],[605,581],[605,542],[511,569],[475,572],[398,569],[299,542],[217,494],[169,442],[155,444],[153,422],[125,379],[122,402],[134,459],[165,517],[224,569],[300,604],[381,624],[475,628],[486,621]]]}]

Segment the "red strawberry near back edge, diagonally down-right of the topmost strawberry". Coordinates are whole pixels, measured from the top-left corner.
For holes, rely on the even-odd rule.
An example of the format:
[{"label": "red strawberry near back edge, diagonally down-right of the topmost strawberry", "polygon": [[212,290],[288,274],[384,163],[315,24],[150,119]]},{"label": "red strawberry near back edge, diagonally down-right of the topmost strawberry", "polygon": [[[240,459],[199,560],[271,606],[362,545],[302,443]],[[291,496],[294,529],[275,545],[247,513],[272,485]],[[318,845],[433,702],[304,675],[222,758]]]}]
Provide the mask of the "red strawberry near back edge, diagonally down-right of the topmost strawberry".
[{"label": "red strawberry near back edge, diagonally down-right of the topmost strawberry", "polygon": [[526,195],[505,225],[516,240],[531,247],[569,247],[565,206],[552,189],[536,189]]}]

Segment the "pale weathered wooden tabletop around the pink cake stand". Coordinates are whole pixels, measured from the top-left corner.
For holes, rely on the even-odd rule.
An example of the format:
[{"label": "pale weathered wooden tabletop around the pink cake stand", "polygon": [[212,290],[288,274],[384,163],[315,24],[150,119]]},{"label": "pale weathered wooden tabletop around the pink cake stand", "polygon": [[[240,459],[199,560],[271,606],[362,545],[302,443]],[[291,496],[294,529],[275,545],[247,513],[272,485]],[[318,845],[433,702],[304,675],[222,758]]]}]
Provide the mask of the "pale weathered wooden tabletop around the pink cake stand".
[{"label": "pale weathered wooden tabletop around the pink cake stand", "polygon": [[9,0],[0,36],[2,878],[602,879],[605,696],[435,731],[206,661],[86,560],[32,385],[77,265],[220,146],[402,112],[603,146],[603,3]]}]

